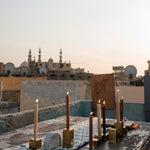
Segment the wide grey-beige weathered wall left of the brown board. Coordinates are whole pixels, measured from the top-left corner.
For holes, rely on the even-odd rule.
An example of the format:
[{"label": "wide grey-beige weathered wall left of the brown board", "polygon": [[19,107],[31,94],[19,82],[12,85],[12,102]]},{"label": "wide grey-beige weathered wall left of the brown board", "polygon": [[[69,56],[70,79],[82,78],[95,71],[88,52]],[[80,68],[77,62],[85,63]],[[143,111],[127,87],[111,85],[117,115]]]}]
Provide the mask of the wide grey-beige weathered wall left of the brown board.
[{"label": "wide grey-beige weathered wall left of the brown board", "polygon": [[71,102],[91,100],[90,81],[24,80],[21,82],[20,111],[32,110],[37,98],[40,108],[65,103],[67,91],[70,92]]}]

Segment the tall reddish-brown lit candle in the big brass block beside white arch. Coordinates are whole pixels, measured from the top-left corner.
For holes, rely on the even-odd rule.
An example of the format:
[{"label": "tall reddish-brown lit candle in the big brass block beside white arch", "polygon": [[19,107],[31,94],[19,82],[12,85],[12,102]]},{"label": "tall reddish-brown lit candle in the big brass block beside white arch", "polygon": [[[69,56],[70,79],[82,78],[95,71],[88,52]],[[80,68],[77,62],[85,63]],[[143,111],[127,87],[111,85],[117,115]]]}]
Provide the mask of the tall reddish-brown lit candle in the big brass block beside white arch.
[{"label": "tall reddish-brown lit candle in the big brass block beside white arch", "polygon": [[69,130],[70,128],[70,109],[69,109],[69,91],[66,95],[66,128]]}]

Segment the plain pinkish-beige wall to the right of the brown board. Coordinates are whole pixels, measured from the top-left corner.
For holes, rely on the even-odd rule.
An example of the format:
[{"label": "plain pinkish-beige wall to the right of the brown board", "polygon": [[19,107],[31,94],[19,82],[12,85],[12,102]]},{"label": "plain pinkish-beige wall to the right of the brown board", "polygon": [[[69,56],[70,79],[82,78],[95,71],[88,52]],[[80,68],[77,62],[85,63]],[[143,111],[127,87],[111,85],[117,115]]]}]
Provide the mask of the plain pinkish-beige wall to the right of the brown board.
[{"label": "plain pinkish-beige wall to the right of the brown board", "polygon": [[124,102],[144,104],[144,86],[117,86],[115,87],[115,91],[117,89],[120,91],[120,97],[124,97]]}]

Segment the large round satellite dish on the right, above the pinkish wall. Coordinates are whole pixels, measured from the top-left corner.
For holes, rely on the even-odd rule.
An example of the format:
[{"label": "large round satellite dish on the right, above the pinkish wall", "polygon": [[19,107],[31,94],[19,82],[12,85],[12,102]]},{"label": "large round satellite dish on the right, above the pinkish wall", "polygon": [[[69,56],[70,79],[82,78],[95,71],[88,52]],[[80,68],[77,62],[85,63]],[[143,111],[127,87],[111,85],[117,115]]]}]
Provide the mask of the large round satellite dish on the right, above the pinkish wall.
[{"label": "large round satellite dish on the right, above the pinkish wall", "polygon": [[136,77],[137,69],[133,65],[129,65],[124,69],[125,77],[133,79]]}]

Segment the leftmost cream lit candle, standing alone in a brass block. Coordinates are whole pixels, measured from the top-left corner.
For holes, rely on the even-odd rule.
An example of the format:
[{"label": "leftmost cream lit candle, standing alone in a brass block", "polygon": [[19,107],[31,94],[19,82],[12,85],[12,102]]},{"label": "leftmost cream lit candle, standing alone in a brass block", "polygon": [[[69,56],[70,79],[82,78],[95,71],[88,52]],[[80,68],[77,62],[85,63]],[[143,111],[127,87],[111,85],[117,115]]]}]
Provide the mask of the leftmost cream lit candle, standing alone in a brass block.
[{"label": "leftmost cream lit candle, standing alone in a brass block", "polygon": [[37,129],[38,129],[38,101],[35,100],[34,103],[34,140],[37,140]]}]

